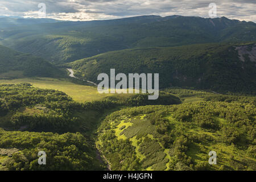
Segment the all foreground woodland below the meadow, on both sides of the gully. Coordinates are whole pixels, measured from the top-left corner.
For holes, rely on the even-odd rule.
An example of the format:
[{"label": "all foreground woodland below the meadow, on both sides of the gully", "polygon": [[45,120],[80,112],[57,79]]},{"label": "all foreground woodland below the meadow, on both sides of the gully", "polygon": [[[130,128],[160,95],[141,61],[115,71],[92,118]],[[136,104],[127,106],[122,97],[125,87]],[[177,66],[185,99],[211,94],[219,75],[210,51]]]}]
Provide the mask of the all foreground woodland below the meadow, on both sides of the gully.
[{"label": "all foreground woodland below the meadow, on both sides of the gully", "polygon": [[[97,137],[112,170],[255,170],[255,101],[168,88],[157,102],[132,94],[79,104],[56,90],[1,85],[0,169],[104,169]],[[37,164],[40,150],[47,166]]]}]

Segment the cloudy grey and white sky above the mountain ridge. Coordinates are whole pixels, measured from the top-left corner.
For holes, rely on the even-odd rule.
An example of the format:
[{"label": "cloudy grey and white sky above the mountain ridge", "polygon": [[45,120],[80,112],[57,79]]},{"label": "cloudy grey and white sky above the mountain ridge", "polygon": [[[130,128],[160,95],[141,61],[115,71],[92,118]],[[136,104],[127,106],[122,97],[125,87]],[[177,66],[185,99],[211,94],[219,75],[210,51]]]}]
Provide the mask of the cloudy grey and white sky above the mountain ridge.
[{"label": "cloudy grey and white sky above the mountain ridge", "polygon": [[[139,15],[217,17],[256,23],[256,0],[0,0],[0,15],[60,20],[102,20]],[[213,12],[213,11],[210,11]]]}]

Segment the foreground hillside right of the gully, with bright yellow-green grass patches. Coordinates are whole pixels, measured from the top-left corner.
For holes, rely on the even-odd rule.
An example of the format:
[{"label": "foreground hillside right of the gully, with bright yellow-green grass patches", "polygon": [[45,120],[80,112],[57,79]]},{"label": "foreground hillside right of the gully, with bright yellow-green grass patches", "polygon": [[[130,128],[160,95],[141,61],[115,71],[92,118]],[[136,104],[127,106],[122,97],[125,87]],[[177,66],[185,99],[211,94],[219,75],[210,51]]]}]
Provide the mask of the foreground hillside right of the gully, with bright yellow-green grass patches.
[{"label": "foreground hillside right of the gully, with bright yellow-green grass patches", "polygon": [[97,146],[112,170],[256,170],[255,97],[169,92],[197,101],[133,107],[102,122]]}]

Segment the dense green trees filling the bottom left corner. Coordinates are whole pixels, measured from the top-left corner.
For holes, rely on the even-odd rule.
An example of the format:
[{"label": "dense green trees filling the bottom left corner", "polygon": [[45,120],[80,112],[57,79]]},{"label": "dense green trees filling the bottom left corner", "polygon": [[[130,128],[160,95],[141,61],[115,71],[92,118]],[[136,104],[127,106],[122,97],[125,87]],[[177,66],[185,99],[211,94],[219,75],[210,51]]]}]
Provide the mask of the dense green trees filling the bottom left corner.
[{"label": "dense green trees filling the bottom left corner", "polygon": [[[38,165],[38,152],[47,165]],[[100,170],[95,152],[80,133],[32,133],[0,129],[0,170]]]}]

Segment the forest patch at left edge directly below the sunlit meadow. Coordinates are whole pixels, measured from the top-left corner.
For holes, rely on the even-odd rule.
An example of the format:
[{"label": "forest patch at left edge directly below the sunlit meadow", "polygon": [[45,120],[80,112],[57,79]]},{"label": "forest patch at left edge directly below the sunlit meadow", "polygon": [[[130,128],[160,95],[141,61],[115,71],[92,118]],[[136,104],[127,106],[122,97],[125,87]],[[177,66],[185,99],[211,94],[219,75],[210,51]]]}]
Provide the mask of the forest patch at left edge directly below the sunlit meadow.
[{"label": "forest patch at left edge directly below the sunlit meadow", "polygon": [[[0,126],[11,130],[59,133],[75,131],[76,127],[82,128],[81,121],[84,118],[80,110],[84,109],[86,104],[72,101],[72,98],[63,92],[33,88],[31,84],[24,83],[1,85],[0,97]],[[97,114],[95,111],[90,115]]]}]

